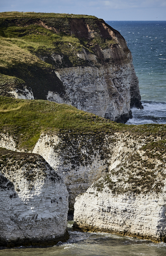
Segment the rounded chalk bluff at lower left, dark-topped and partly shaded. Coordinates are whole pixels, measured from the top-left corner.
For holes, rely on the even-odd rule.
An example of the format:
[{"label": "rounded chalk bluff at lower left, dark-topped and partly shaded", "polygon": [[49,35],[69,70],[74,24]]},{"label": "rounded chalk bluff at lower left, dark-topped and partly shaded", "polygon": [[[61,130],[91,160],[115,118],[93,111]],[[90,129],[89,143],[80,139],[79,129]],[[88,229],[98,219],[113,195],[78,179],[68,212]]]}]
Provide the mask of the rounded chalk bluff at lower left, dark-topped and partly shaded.
[{"label": "rounded chalk bluff at lower left, dark-topped and partly shaded", "polygon": [[0,246],[66,241],[68,191],[37,154],[0,148]]}]

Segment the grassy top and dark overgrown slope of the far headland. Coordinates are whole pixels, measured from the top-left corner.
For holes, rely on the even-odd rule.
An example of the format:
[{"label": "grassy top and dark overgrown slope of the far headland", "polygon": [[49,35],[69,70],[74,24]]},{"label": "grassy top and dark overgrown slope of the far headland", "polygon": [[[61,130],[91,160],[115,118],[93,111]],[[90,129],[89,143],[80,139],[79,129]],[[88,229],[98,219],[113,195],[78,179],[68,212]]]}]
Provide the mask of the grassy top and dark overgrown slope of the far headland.
[{"label": "grassy top and dark overgrown slope of the far headland", "polygon": [[[92,61],[78,57],[78,53],[84,50],[98,54],[98,47],[105,49],[117,44],[102,24],[103,20],[88,15],[1,12],[0,74],[22,80],[22,88],[32,89],[36,99],[46,99],[49,90],[65,97],[63,84],[54,71],[94,66]],[[0,86],[10,88],[1,79]]]}]

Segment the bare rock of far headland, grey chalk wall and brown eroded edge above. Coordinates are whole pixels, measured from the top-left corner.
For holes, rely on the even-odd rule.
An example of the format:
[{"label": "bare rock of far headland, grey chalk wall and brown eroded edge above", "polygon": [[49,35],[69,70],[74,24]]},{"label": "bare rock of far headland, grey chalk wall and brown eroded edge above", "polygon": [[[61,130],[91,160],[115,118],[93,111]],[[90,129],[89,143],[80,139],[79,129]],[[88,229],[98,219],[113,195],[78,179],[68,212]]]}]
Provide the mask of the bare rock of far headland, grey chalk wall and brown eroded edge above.
[{"label": "bare rock of far headland, grey chalk wall and brown eroded edge above", "polygon": [[[77,22],[83,35],[90,42],[98,35],[102,39],[113,40],[110,47],[102,49],[96,44],[89,52],[87,49],[77,53],[77,58],[85,61],[86,66],[57,68],[56,75],[65,86],[66,98],[59,97],[56,92],[49,91],[47,99],[58,103],[71,104],[80,110],[116,122],[126,122],[132,117],[130,107],[142,108],[140,102],[138,78],[136,77],[132,56],[120,33],[106,23],[96,21],[98,30],[92,29],[86,20],[74,20],[71,33],[80,37],[76,30]],[[78,29],[78,28],[77,28]],[[77,32],[77,33],[76,33]],[[73,46],[70,44],[70,48]],[[63,58],[57,59],[62,63]]]}]

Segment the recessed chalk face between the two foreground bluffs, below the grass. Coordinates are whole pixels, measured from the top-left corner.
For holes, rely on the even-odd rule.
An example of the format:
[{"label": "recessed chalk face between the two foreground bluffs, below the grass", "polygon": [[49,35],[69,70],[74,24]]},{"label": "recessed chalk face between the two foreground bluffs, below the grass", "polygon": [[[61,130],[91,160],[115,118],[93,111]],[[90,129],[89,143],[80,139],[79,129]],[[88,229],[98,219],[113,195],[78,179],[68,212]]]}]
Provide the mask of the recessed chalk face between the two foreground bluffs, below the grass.
[{"label": "recessed chalk face between the two foreground bluffs, below the grass", "polygon": [[107,165],[101,159],[100,150],[101,143],[95,137],[73,134],[42,134],[33,149],[33,153],[42,155],[62,177],[68,189],[71,212],[75,197],[106,173]]}]

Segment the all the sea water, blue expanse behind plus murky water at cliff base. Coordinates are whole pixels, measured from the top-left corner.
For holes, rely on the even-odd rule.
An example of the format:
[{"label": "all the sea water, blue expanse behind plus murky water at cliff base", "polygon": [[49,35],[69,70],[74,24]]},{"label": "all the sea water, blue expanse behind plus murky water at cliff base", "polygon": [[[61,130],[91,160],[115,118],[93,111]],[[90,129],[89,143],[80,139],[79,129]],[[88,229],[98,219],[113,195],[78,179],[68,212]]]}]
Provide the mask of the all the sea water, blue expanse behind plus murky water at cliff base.
[{"label": "all the sea water, blue expanse behind plus murky water at cliff base", "polygon": [[[106,21],[122,34],[133,56],[143,110],[132,109],[126,125],[166,124],[166,21]],[[0,256],[166,256],[166,244],[108,233],[72,231],[70,239],[47,248],[0,250]]]}]

